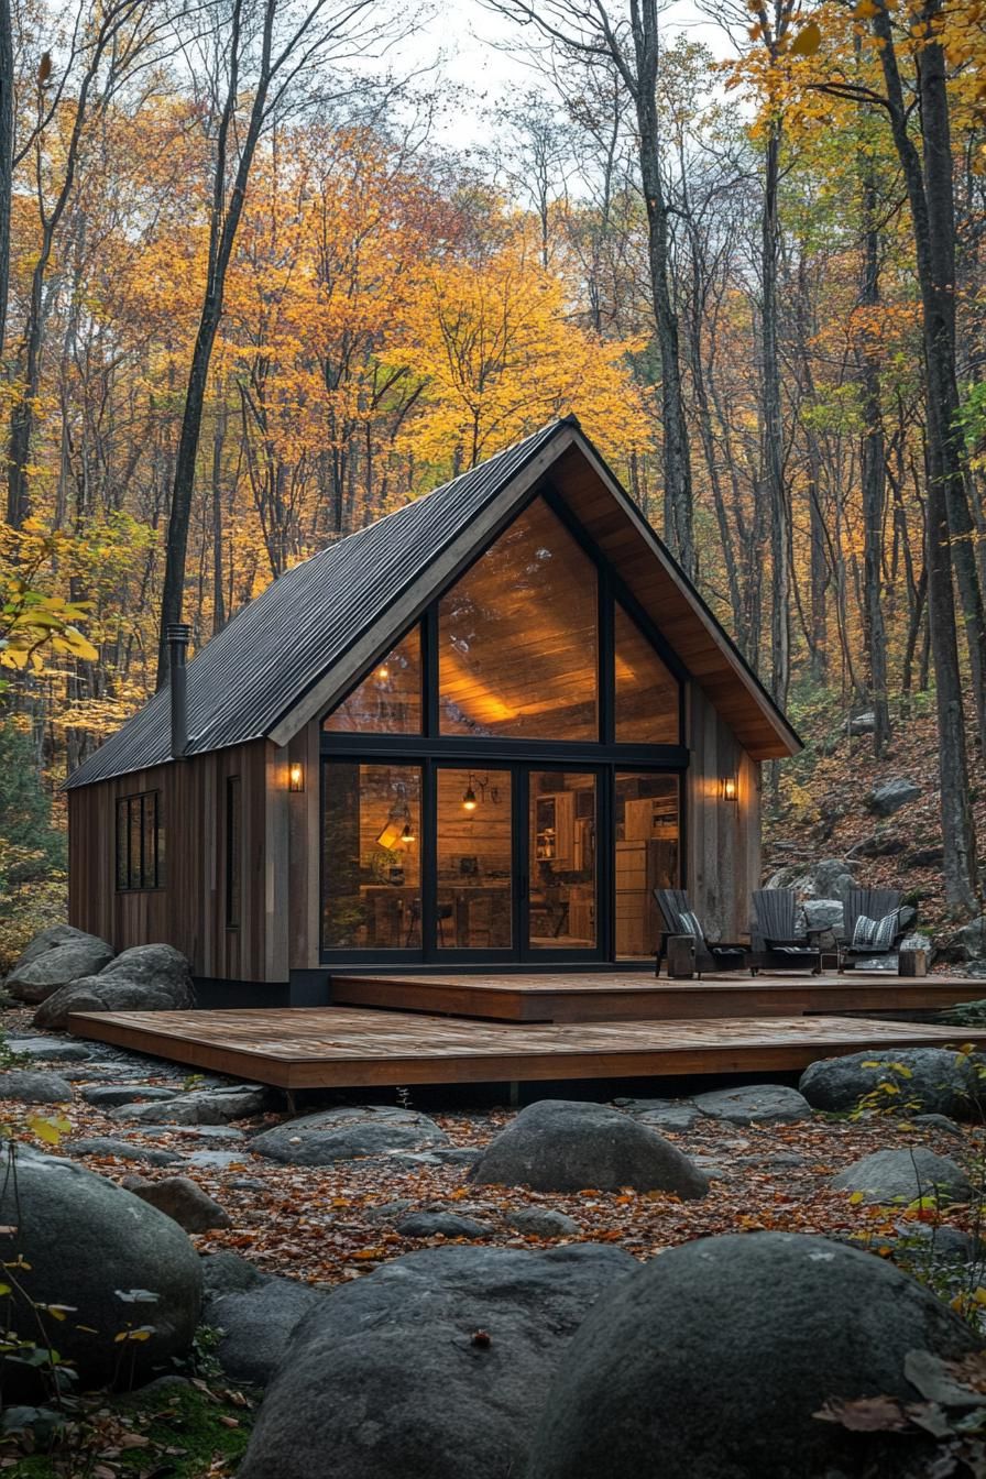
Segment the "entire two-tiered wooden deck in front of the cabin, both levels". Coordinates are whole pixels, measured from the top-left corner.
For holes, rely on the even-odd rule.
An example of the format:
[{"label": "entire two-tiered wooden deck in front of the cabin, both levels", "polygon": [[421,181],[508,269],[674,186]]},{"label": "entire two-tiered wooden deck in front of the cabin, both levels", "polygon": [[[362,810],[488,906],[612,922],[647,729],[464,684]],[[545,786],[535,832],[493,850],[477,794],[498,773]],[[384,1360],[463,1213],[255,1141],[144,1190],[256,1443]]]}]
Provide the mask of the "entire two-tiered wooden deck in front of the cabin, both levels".
[{"label": "entire two-tiered wooden deck in front of the cabin, both levels", "polygon": [[[386,978],[346,979],[370,989],[371,981]],[[439,978],[389,979],[395,989],[420,979],[420,1003],[421,992],[436,988]],[[983,992],[982,982],[940,976],[667,982],[568,975],[443,978],[442,984],[448,988],[445,1015],[435,1015],[436,1009],[396,1010],[383,1001],[222,1012],[81,1012],[69,1018],[69,1031],[281,1089],[770,1074],[865,1049],[986,1044],[986,1028],[835,1015],[940,1007]],[[356,994],[358,988],[350,985],[347,991]],[[469,997],[454,1006],[455,991]],[[491,997],[497,1012],[506,1009],[500,992],[520,1006],[532,1003],[534,1010],[545,1010],[544,1003],[572,1010],[577,1001],[587,1012],[591,1004],[599,1013],[606,1010],[608,1021],[491,1021],[488,1009],[482,1018],[467,1013],[470,1003]],[[642,1001],[646,1010],[627,1018],[622,1013],[630,1000]],[[676,1015],[667,1015],[673,1006]]]}]

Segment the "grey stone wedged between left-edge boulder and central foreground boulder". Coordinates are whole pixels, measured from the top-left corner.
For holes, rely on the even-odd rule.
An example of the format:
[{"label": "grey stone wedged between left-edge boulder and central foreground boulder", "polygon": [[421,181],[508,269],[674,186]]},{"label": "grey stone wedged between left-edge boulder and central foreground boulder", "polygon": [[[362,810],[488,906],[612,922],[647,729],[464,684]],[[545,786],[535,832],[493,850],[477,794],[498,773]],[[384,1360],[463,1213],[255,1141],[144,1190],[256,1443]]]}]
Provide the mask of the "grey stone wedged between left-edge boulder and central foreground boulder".
[{"label": "grey stone wedged between left-edge boulder and central foreground boulder", "polygon": [[284,1359],[299,1322],[327,1299],[324,1290],[313,1290],[294,1279],[265,1279],[259,1288],[247,1288],[214,1299],[208,1319],[220,1333],[216,1356],[234,1381],[266,1386]]}]

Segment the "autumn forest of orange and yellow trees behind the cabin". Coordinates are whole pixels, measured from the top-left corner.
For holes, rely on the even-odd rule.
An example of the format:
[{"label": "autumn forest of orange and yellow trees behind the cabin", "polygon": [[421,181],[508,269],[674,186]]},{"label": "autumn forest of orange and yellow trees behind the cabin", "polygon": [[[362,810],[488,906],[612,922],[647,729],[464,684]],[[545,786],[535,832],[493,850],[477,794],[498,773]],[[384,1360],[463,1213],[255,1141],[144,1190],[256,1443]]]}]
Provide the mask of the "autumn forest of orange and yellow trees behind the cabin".
[{"label": "autumn forest of orange and yellow trees behind the cabin", "polygon": [[795,723],[933,717],[968,913],[986,4],[485,9],[460,135],[412,7],[0,0],[3,893],[167,623],[575,411]]}]

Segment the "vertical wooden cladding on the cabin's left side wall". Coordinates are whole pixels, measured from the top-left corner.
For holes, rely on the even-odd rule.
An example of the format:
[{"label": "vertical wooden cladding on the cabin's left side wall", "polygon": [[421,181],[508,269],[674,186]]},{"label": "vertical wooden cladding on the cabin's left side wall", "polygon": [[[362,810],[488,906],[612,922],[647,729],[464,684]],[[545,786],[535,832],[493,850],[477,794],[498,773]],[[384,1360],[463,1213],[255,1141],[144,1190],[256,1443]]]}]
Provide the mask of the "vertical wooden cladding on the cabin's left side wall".
[{"label": "vertical wooden cladding on the cabin's left side wall", "polygon": [[[271,877],[268,787],[279,781],[272,774],[278,754],[268,741],[254,740],[69,791],[71,923],[118,951],[164,941],[188,955],[197,976],[287,981],[287,929],[284,947],[271,948],[281,905]],[[234,775],[241,796],[241,899],[239,923],[229,927],[226,782]],[[117,800],[155,790],[164,830],[163,886],[120,892]]]}]

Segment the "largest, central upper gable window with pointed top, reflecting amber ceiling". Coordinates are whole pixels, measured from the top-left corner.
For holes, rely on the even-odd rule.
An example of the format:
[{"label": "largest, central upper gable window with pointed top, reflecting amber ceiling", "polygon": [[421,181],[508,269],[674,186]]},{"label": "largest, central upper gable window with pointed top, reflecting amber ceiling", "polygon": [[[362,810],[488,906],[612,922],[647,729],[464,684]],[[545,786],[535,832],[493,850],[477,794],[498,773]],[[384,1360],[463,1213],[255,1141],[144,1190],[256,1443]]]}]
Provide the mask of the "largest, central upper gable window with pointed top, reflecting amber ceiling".
[{"label": "largest, central upper gable window with pointed top, reflecting amber ceiling", "polygon": [[439,602],[439,731],[599,740],[596,566],[541,498]]}]

